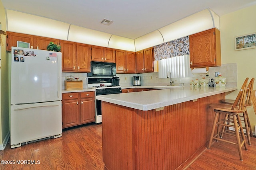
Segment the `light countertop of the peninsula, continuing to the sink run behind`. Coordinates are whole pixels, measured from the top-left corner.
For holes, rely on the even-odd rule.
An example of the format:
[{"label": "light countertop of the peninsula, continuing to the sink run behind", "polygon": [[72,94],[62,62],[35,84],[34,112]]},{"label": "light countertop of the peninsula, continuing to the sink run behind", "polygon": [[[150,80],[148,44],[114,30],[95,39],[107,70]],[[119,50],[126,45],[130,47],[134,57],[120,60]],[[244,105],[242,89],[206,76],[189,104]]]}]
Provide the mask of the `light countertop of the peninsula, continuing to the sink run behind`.
[{"label": "light countertop of the peninsula, continuing to the sink run behind", "polygon": [[[137,86],[132,86],[132,88],[137,88]],[[140,88],[160,88],[162,90],[108,94],[96,96],[96,99],[134,109],[151,110],[237,89],[236,87],[195,88],[189,86],[140,86]]]}]

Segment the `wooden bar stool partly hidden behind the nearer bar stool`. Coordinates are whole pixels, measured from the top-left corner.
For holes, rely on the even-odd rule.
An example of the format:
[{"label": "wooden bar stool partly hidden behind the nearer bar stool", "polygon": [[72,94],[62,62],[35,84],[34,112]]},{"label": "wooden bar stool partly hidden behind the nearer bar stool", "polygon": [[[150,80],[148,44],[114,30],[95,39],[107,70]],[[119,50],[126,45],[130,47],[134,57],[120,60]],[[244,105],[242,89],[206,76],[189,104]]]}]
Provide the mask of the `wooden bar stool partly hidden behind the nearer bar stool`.
[{"label": "wooden bar stool partly hidden behind the nearer bar stool", "polygon": [[[254,79],[255,78],[252,78],[247,86],[247,89],[246,89],[246,99],[245,99],[245,103],[244,103],[244,107],[249,107],[249,106],[252,106],[252,90],[253,90],[253,84],[254,84]],[[225,103],[225,104],[234,104],[235,100],[231,100],[231,99],[226,99],[226,100],[221,100],[222,103]],[[249,116],[248,116],[248,112],[247,112],[247,109],[245,110],[244,113],[242,113],[242,115],[240,115],[240,118],[241,121],[244,121],[244,129],[246,129],[246,136],[247,136],[247,139],[248,139],[248,144],[251,145],[251,140],[250,140],[250,137],[253,137],[252,135],[252,127],[251,127],[251,124],[250,124],[250,119],[249,119]],[[229,119],[232,119],[232,117],[229,117]],[[229,130],[229,129],[227,129]],[[230,130],[230,132],[232,132]]]}]

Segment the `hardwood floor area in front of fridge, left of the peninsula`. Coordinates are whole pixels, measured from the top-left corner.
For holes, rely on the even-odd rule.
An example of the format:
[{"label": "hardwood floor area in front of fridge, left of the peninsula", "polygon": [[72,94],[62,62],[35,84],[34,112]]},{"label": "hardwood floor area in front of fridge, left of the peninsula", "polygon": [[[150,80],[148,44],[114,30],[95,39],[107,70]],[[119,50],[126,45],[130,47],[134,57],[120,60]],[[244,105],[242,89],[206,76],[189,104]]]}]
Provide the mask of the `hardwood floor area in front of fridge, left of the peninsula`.
[{"label": "hardwood floor area in front of fridge, left of the peninsula", "polygon": [[[102,162],[102,125],[90,124],[62,132],[62,137],[0,150],[0,160],[15,164],[0,164],[0,170],[104,170]],[[17,164],[32,160],[40,164]]]}]

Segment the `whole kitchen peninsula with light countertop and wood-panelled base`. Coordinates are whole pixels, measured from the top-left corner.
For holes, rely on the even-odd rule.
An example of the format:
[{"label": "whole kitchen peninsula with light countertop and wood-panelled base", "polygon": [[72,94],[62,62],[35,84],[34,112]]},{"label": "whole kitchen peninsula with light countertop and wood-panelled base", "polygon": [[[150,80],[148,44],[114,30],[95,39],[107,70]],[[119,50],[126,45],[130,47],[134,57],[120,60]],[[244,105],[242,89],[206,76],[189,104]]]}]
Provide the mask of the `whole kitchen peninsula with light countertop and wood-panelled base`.
[{"label": "whole kitchen peninsula with light countertop and wood-panelled base", "polygon": [[105,169],[184,169],[206,149],[214,119],[208,105],[236,89],[185,86],[96,96]]}]

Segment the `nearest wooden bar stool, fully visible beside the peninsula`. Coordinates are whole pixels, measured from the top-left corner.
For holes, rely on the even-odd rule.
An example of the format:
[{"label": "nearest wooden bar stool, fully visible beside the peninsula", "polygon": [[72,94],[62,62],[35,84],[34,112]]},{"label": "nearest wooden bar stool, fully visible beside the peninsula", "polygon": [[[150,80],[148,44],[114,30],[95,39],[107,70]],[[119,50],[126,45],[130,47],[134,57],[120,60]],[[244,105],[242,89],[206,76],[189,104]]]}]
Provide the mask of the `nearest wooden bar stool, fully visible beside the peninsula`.
[{"label": "nearest wooden bar stool, fully visible beside the peninsula", "polygon": [[[212,109],[214,109],[215,117],[214,117],[214,122],[213,122],[213,126],[212,126],[212,133],[210,135],[208,149],[210,149],[210,147],[212,145],[212,139],[215,139],[216,141],[223,141],[223,142],[237,145],[240,160],[243,160],[242,146],[244,145],[244,148],[247,150],[244,131],[243,131],[240,117],[239,117],[239,113],[245,112],[245,107],[244,107],[245,102],[244,101],[245,101],[245,97],[246,97],[246,84],[247,84],[248,80],[249,80],[249,78],[246,78],[246,80],[244,81],[244,84],[242,85],[242,88],[241,88],[240,92],[238,93],[238,96],[236,97],[236,100],[233,105],[223,104],[223,103],[210,104],[210,107]],[[228,117],[232,117],[232,120],[229,120]],[[230,124],[231,122],[234,125],[231,125]],[[216,125],[217,125],[217,133],[214,135]],[[234,127],[235,134],[229,133],[228,131],[220,130],[220,128],[225,129],[225,127]],[[239,129],[240,129],[241,136],[242,136],[242,142],[240,141]],[[222,139],[221,138],[222,134],[235,136],[236,143],[233,141],[228,141],[228,140]]]}]

